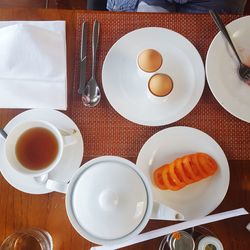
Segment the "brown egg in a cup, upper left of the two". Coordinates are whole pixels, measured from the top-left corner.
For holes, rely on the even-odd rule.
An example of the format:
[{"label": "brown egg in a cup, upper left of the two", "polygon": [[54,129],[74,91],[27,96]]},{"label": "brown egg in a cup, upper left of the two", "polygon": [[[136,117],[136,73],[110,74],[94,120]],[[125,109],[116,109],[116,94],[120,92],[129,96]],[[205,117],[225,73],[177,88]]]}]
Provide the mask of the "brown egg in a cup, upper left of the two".
[{"label": "brown egg in a cup, upper left of the two", "polygon": [[154,49],[146,49],[138,56],[139,67],[146,72],[154,72],[162,65],[161,54]]}]

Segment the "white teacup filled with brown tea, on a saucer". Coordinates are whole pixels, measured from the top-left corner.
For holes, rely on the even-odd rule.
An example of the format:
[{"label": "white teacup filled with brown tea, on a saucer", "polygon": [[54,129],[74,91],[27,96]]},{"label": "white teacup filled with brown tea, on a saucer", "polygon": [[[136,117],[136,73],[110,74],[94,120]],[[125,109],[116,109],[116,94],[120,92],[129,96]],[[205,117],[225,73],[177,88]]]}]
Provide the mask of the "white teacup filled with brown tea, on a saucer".
[{"label": "white teacup filled with brown tea, on a saucer", "polygon": [[[18,124],[8,133],[4,144],[4,152],[9,166],[18,173],[34,177],[40,182],[41,178],[47,178],[48,173],[58,165],[62,158],[64,147],[76,143],[75,132],[72,129],[67,131],[60,130],[53,124],[42,120],[26,121]],[[38,133],[40,134],[38,135]],[[37,142],[35,139],[42,138],[42,136],[45,144],[39,153],[37,149],[41,147],[39,145],[41,141]],[[49,139],[46,139],[46,136]],[[48,149],[48,154],[50,153],[49,149],[52,149],[52,139],[54,155],[46,156],[48,159],[45,162],[44,152],[46,151],[45,149]],[[38,153],[39,155],[37,155]],[[40,165],[36,156],[37,158],[40,157]]]}]

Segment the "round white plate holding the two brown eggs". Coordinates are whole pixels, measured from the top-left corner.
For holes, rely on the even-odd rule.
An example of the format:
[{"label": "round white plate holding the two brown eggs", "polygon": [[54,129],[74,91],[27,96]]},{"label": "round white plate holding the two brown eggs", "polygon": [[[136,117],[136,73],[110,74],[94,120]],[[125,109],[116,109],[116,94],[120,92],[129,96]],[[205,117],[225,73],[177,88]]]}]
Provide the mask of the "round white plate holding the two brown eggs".
[{"label": "round white plate holding the two brown eggs", "polygon": [[[148,99],[147,80],[137,71],[137,55],[148,48],[163,56],[163,71],[174,89],[164,103]],[[103,64],[102,84],[113,108],[141,125],[160,126],[187,115],[199,101],[205,82],[204,65],[196,48],[182,35],[164,28],[142,28],[119,39]]]}]

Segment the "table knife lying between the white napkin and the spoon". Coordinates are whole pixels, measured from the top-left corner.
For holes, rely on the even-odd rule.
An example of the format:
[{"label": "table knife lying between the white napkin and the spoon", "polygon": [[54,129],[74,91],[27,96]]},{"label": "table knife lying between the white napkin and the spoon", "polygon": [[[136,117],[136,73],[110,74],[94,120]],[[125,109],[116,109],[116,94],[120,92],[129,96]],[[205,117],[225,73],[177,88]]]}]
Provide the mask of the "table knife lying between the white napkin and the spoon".
[{"label": "table knife lying between the white napkin and the spoon", "polygon": [[86,84],[87,65],[87,22],[82,23],[81,51],[80,51],[80,82],[78,93],[82,94]]}]

